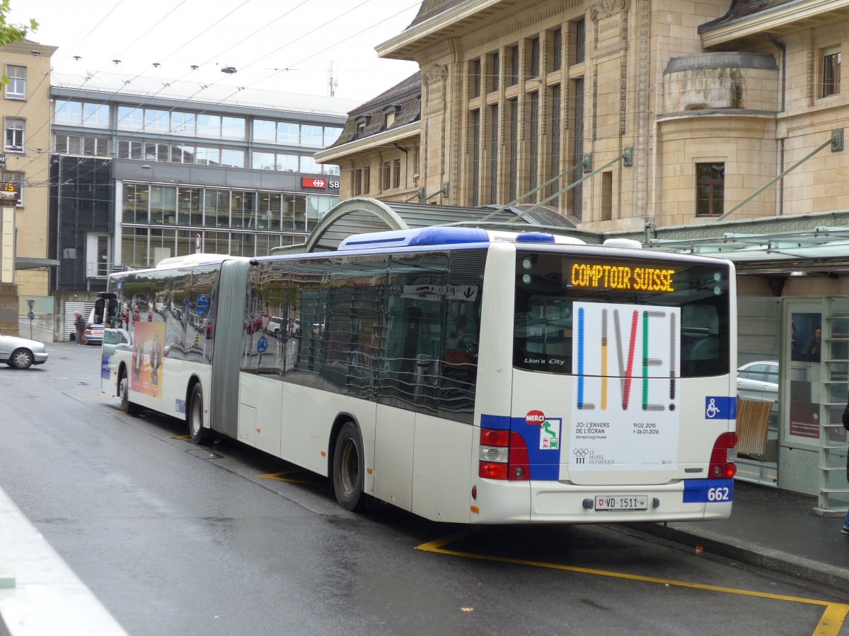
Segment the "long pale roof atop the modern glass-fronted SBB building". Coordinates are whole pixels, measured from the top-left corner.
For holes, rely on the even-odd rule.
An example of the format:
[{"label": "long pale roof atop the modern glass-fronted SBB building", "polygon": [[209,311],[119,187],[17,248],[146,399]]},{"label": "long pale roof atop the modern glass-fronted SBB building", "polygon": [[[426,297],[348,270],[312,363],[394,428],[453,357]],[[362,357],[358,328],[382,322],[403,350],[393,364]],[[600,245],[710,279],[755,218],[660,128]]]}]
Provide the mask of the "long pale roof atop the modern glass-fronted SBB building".
[{"label": "long pale roof atop the modern glass-fronted SBB building", "polygon": [[50,84],[53,87],[77,91],[110,92],[116,98],[121,95],[134,95],[296,113],[344,115],[359,103],[354,99],[329,98],[322,95],[263,91],[256,88],[239,89],[238,86],[205,85],[194,81],[102,72],[92,75],[51,73]]}]

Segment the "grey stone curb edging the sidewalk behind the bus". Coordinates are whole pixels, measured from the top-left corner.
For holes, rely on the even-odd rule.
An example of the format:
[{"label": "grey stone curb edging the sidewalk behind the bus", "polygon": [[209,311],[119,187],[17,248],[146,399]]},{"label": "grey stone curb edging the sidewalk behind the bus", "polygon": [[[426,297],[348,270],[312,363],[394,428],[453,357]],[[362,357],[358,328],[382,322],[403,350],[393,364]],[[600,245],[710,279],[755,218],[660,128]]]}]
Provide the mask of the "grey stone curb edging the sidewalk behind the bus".
[{"label": "grey stone curb edging the sidewalk behind the bus", "polygon": [[849,572],[842,567],[829,566],[801,556],[790,555],[781,550],[772,550],[758,544],[728,538],[722,534],[711,533],[710,530],[694,531],[682,523],[621,523],[619,525],[634,533],[649,534],[693,549],[701,547],[711,555],[722,556],[746,566],[776,572],[786,577],[849,594]]}]

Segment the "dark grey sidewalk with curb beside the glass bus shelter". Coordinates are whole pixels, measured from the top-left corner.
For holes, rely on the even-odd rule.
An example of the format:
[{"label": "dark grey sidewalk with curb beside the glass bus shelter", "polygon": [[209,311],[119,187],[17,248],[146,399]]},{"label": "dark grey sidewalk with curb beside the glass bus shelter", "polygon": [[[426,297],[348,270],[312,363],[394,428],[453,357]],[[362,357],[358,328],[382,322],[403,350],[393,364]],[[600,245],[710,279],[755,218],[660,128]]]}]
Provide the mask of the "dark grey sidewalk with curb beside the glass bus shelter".
[{"label": "dark grey sidewalk with curb beside the glass bus shelter", "polygon": [[623,525],[849,594],[849,535],[841,534],[843,515],[818,516],[816,505],[816,497],[736,482],[729,519]]}]

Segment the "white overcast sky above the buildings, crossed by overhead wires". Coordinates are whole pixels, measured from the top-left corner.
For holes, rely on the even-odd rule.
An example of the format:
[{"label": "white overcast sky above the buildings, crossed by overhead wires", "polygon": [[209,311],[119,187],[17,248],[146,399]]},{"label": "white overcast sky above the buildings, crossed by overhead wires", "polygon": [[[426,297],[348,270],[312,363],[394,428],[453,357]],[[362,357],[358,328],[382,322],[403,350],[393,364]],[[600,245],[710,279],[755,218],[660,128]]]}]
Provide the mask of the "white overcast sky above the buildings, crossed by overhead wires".
[{"label": "white overcast sky above the buildings, crossed by overhead wires", "polygon": [[[379,59],[374,47],[399,35],[420,4],[11,0],[9,21],[37,20],[38,30],[29,37],[59,47],[53,54],[53,70],[59,73],[121,73],[329,95],[333,64],[335,96],[365,102],[418,70],[413,62]],[[198,68],[192,70],[193,65]],[[227,67],[236,72],[222,73]]]}]

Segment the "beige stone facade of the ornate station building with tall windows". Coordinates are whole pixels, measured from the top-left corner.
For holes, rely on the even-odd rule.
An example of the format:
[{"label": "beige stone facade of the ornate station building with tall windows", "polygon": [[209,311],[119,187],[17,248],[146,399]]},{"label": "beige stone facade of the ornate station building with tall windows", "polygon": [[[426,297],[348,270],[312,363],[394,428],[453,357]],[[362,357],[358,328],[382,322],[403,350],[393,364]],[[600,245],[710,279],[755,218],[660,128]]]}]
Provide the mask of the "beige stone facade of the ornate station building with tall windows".
[{"label": "beige stone facade of the ornate station building with tall windows", "polygon": [[[808,157],[849,114],[839,66],[836,85],[826,69],[849,21],[839,7],[802,4],[424,2],[377,47],[421,69],[413,185],[449,184],[441,204],[507,204],[571,170],[528,203],[606,166],[549,205],[585,230],[637,232],[714,222],[801,161],[733,218],[849,207],[849,155]],[[335,160],[349,152],[351,168],[383,160],[348,143]],[[717,178],[706,182],[707,169]],[[351,174],[343,198],[354,196]]]}]

